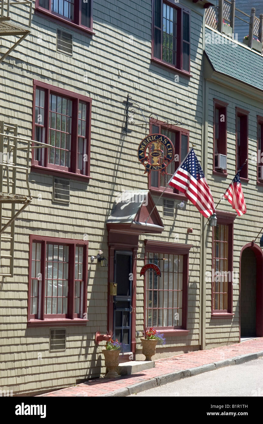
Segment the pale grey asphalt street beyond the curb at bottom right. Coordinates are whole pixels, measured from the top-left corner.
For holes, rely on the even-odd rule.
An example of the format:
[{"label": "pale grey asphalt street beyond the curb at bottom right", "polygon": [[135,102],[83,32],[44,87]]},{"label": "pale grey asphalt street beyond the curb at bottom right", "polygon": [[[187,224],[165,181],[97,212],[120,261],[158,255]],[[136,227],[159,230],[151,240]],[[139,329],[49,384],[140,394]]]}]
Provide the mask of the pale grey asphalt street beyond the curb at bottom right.
[{"label": "pale grey asphalt street beyond the curb at bottom right", "polygon": [[263,397],[263,357],[184,378],[127,397],[260,396]]}]

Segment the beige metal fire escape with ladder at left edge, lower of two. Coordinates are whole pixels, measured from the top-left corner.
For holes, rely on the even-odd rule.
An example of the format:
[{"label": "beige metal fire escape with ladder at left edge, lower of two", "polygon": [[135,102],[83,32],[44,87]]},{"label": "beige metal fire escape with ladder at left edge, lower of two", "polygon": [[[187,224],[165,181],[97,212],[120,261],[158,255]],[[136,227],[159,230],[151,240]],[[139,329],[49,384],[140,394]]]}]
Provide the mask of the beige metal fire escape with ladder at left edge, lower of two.
[{"label": "beige metal fire escape with ladder at left edge, lower of two", "polygon": [[0,276],[14,274],[15,220],[32,201],[30,151],[43,147],[50,145],[18,137],[17,125],[0,121]]}]

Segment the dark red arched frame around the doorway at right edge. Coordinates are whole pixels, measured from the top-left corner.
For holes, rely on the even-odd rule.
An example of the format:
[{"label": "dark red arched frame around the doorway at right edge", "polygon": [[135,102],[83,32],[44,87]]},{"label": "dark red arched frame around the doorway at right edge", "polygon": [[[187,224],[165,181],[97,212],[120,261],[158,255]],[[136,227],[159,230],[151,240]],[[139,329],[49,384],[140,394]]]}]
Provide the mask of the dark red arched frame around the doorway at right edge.
[{"label": "dark red arched frame around the doorway at right edge", "polygon": [[245,249],[251,249],[256,257],[256,337],[263,337],[263,251],[252,241],[244,245],[239,259],[239,342],[241,338],[241,259]]}]

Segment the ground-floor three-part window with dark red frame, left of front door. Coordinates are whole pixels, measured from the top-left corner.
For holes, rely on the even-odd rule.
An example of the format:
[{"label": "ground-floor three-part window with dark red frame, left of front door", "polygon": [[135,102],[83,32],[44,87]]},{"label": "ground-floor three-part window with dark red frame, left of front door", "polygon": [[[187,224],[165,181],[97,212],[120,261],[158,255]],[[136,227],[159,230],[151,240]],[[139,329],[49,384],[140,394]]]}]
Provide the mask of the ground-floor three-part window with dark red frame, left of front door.
[{"label": "ground-floor three-part window with dark red frame, left of front door", "polygon": [[28,321],[84,319],[88,242],[30,236]]}]

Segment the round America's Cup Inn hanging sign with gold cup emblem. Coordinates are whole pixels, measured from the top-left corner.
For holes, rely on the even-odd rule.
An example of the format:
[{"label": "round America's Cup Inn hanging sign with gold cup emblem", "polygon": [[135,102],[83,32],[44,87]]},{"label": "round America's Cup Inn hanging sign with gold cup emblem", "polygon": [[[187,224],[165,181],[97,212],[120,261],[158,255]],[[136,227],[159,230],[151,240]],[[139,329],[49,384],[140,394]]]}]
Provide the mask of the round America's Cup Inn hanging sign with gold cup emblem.
[{"label": "round America's Cup Inn hanging sign with gold cup emblem", "polygon": [[[147,149],[148,152],[147,152]],[[147,154],[149,154],[150,159]],[[145,137],[138,148],[138,159],[145,167],[145,174],[151,171],[161,171],[167,174],[166,167],[174,158],[173,143],[163,134],[151,134]]]}]

